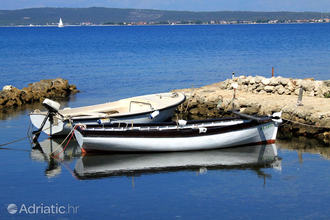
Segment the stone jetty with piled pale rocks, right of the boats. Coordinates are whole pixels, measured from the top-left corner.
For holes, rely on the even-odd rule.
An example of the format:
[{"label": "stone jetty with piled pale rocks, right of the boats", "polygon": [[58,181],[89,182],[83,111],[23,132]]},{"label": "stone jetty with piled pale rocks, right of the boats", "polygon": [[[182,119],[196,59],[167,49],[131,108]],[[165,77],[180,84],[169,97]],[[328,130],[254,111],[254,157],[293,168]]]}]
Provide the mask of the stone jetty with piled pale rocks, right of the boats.
[{"label": "stone jetty with piled pale rocks, right of the boats", "polygon": [[[237,88],[235,99],[233,99],[234,87]],[[297,105],[300,88],[303,89],[303,98],[301,105]],[[283,120],[287,123],[281,125],[281,129],[304,136],[329,138],[330,80],[240,76],[196,88],[192,94],[190,89],[174,90],[174,92],[184,92],[192,97],[188,108],[188,97],[182,108],[179,106],[181,112],[187,108],[189,114],[214,118],[230,116],[227,113],[230,109],[240,109],[241,112],[249,115],[282,111],[283,118],[294,122]]]}]

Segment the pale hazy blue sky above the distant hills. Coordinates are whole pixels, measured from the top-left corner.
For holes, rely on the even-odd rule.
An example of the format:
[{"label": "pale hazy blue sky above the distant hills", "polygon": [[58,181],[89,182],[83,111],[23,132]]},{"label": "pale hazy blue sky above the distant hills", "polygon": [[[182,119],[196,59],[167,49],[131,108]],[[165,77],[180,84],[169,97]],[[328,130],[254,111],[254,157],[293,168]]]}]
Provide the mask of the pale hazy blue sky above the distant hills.
[{"label": "pale hazy blue sky above the distant hills", "polygon": [[330,0],[0,0],[0,9],[109,7],[179,11],[330,12]]}]

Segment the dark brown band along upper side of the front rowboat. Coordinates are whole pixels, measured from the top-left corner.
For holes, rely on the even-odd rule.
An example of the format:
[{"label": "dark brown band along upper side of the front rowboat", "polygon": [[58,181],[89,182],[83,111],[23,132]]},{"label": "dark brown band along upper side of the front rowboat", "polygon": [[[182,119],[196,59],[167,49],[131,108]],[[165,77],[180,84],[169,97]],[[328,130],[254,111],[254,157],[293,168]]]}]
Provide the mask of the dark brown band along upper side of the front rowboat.
[{"label": "dark brown band along upper side of the front rowboat", "polygon": [[[103,130],[82,130],[79,126],[77,131],[82,134],[83,137],[125,137],[125,138],[182,138],[182,137],[198,137],[198,136],[208,136],[214,134],[221,134],[241,129],[247,129],[254,126],[269,123],[249,121],[235,125],[217,126],[207,128],[206,133],[199,133],[199,129],[189,129],[189,130],[125,130],[125,131],[103,131]],[[87,126],[89,127],[89,126]]]}]

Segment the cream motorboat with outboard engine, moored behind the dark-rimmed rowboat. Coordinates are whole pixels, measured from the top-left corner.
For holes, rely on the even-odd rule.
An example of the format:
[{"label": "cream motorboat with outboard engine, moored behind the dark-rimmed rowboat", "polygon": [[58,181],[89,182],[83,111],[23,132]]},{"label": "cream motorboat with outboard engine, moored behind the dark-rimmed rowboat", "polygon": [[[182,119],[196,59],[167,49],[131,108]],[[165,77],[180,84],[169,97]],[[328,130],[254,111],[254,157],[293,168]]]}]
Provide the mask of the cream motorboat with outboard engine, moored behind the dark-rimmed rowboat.
[{"label": "cream motorboat with outboard engine, moored behind the dark-rimmed rowboat", "polygon": [[[97,125],[99,123],[113,123],[114,121],[163,122],[172,117],[175,109],[185,100],[186,97],[182,93],[160,93],[121,99],[100,105],[59,110],[60,105],[57,102],[47,99],[43,105],[52,110],[53,113],[48,114],[47,111],[35,110],[29,115],[35,127],[48,128],[44,131],[46,134],[51,136],[67,135],[71,131],[71,124],[74,123]],[[56,107],[54,108],[54,106]],[[52,120],[44,121],[49,116]]]}]

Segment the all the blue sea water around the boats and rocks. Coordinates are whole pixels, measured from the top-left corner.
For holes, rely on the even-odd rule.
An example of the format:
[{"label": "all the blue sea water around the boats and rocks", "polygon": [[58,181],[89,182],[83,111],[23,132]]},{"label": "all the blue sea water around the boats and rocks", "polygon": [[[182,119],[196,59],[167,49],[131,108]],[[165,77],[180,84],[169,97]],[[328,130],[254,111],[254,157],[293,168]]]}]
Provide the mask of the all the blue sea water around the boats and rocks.
[{"label": "all the blue sea water around the boats and rocks", "polygon": [[[330,24],[0,28],[0,86],[62,77],[77,107],[195,87],[237,75],[328,79]],[[0,144],[24,137],[40,103],[0,112]],[[329,219],[329,142],[279,133],[277,143],[168,154],[86,155],[71,141],[0,149],[1,219]],[[61,148],[60,148],[61,150]],[[57,151],[58,152],[58,151]],[[9,204],[79,206],[10,214]],[[32,208],[30,209],[32,211]],[[39,210],[40,212],[40,210]]]}]

